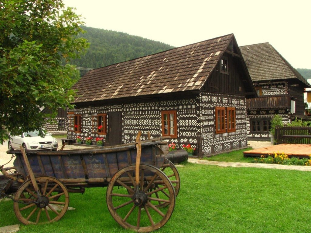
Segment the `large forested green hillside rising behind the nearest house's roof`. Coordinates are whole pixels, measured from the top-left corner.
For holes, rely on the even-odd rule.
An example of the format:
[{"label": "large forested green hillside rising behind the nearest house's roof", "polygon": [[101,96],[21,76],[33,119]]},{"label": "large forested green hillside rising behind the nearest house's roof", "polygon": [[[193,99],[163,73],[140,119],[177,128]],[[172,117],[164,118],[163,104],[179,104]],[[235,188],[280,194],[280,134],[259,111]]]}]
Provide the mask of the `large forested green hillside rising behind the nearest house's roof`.
[{"label": "large forested green hillside rising behind the nearest house's roof", "polygon": [[90,48],[81,59],[72,62],[79,67],[99,68],[174,48],[127,33],[85,26],[81,28],[86,31],[81,37],[88,40]]}]

